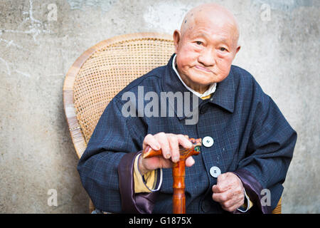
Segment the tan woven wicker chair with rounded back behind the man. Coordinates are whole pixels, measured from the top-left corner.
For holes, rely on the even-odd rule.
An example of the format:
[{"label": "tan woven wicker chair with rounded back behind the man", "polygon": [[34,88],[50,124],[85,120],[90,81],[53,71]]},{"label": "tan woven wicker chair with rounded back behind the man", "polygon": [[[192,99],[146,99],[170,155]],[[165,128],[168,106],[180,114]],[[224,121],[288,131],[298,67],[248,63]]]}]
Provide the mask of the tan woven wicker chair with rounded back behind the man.
[{"label": "tan woven wicker chair with rounded back behind the man", "polygon": [[[65,77],[63,103],[79,158],[114,95],[151,69],[166,65],[172,53],[172,36],[134,33],[97,43],[73,63]],[[93,209],[90,200],[90,212]],[[281,213],[281,200],[274,212]]]}]

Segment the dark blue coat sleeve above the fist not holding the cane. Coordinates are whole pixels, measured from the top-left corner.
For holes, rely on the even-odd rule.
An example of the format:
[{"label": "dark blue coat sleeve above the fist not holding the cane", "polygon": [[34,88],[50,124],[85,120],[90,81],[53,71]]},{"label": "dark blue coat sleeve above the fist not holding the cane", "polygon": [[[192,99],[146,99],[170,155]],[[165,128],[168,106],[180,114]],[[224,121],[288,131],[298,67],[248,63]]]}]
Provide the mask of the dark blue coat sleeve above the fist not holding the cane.
[{"label": "dark blue coat sleeve above the fist not holding the cane", "polygon": [[246,156],[234,173],[242,180],[250,200],[263,213],[271,213],[282,195],[297,133],[257,83],[254,100]]}]

